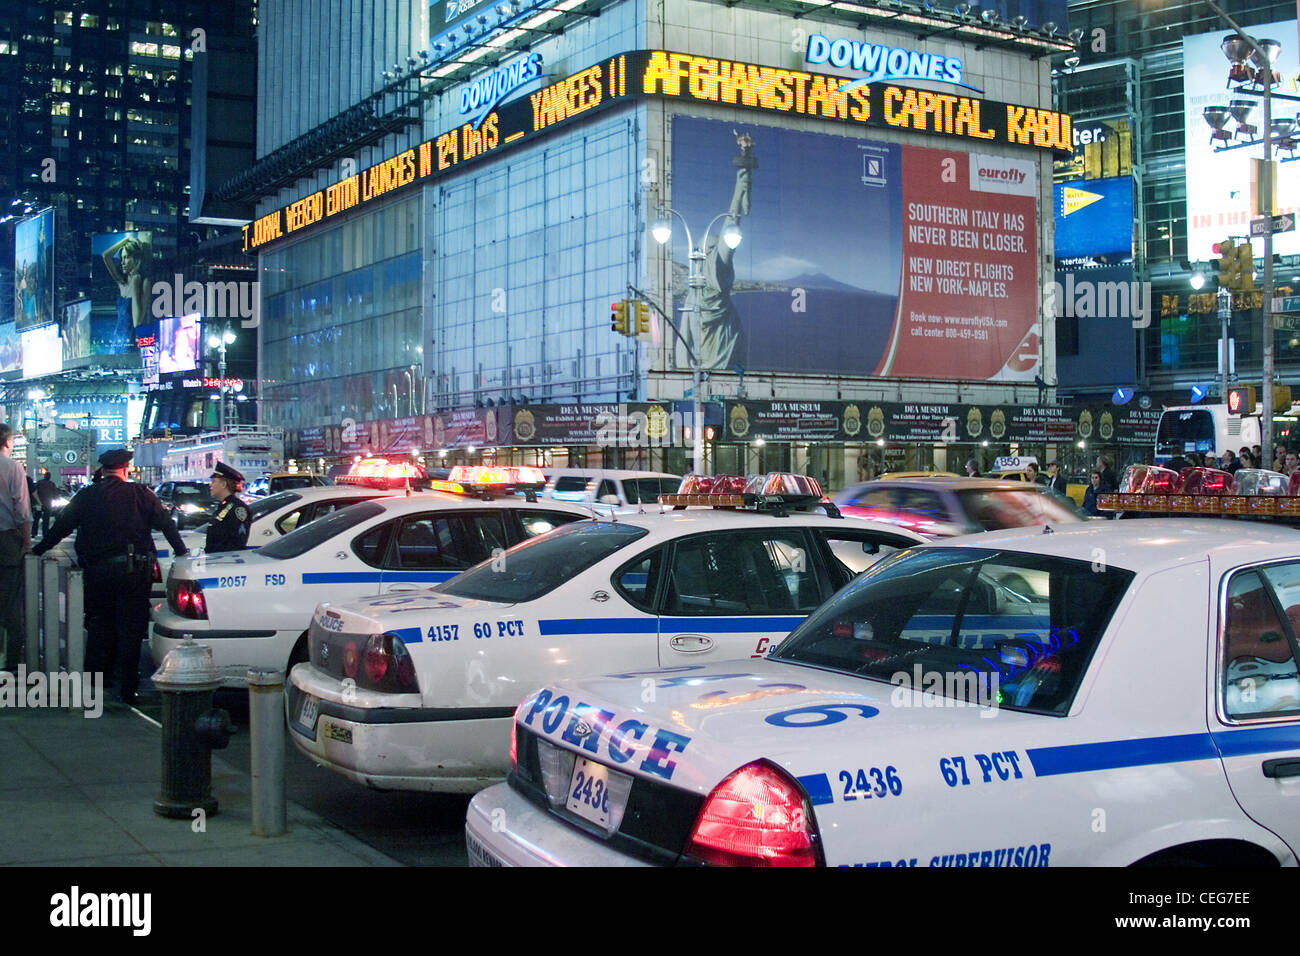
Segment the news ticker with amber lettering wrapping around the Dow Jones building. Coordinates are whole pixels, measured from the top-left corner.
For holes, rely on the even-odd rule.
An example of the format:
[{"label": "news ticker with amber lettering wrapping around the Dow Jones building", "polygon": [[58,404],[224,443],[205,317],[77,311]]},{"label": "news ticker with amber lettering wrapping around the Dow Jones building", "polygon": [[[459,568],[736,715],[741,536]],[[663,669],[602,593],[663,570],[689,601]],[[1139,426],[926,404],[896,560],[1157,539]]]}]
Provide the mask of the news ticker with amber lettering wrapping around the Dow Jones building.
[{"label": "news ticker with amber lettering wrapping around the Dow Jones building", "polygon": [[528,143],[592,111],[645,98],[1057,153],[1074,148],[1070,117],[1052,109],[883,82],[841,90],[844,83],[844,77],[663,49],[621,53],[512,100],[477,125],[448,129],[261,216],[243,226],[243,248],[264,250],[333,216]]}]

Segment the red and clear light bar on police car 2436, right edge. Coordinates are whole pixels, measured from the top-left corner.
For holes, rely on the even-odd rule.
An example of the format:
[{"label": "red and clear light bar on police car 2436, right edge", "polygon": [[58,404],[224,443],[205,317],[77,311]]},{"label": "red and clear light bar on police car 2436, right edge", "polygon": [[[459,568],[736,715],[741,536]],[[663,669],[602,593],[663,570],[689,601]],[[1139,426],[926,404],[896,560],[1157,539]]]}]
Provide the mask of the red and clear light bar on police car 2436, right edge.
[{"label": "red and clear light bar on police car 2436, right edge", "polygon": [[1300,472],[1290,479],[1266,468],[1217,468],[1174,472],[1134,464],[1115,494],[1097,496],[1098,511],[1170,515],[1300,518]]}]

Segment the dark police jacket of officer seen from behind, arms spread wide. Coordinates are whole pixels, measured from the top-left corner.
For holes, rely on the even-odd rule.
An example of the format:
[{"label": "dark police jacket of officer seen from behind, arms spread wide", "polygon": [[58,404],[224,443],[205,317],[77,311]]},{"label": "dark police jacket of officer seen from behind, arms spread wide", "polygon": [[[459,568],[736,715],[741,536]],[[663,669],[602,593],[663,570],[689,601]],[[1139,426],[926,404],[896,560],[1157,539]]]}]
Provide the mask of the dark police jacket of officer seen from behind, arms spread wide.
[{"label": "dark police jacket of officer seen from behind, arms spread wide", "polygon": [[77,532],[77,561],[91,567],[127,551],[153,554],[155,531],[161,531],[176,554],[185,554],[185,541],[162,502],[148,488],[105,475],[87,485],[68,503],[58,520],[32,554],[44,554],[65,537]]}]

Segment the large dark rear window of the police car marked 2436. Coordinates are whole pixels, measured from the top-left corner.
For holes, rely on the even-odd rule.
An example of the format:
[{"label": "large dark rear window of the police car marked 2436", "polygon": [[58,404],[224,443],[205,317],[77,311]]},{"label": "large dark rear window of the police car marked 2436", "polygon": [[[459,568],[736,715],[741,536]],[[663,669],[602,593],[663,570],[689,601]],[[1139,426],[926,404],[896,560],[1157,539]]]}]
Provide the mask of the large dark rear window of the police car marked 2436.
[{"label": "large dark rear window of the police car marked 2436", "polygon": [[814,611],[772,659],[888,682],[913,700],[1063,715],[1132,578],[1040,554],[910,549]]}]

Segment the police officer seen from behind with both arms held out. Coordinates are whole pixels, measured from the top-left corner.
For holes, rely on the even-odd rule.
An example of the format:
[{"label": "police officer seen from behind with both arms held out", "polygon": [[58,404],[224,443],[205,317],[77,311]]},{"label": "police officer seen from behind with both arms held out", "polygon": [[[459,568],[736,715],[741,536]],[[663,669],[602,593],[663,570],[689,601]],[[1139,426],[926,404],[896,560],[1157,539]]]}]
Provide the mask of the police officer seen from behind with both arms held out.
[{"label": "police officer seen from behind with both arms held out", "polygon": [[103,477],[77,493],[31,553],[44,554],[77,532],[77,562],[86,570],[86,670],[116,672],[118,698],[134,704],[150,624],[151,532],[166,535],[178,558],[186,546],[153,492],[126,480],[130,451],[105,451],[99,462]]}]

